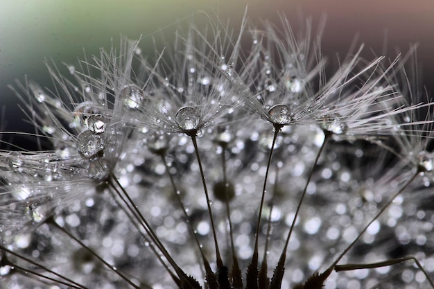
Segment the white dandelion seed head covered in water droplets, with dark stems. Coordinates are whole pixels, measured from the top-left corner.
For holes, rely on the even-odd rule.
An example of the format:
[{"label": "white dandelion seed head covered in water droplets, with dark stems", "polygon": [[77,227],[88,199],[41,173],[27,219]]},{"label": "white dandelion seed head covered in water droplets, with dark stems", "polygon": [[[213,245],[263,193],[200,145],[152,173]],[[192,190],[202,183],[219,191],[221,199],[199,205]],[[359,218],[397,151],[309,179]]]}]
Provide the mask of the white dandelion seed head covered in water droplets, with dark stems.
[{"label": "white dandelion seed head covered in water droplets, with dark stems", "polygon": [[35,132],[0,134],[0,287],[434,288],[414,50],[208,20],[10,86]]}]

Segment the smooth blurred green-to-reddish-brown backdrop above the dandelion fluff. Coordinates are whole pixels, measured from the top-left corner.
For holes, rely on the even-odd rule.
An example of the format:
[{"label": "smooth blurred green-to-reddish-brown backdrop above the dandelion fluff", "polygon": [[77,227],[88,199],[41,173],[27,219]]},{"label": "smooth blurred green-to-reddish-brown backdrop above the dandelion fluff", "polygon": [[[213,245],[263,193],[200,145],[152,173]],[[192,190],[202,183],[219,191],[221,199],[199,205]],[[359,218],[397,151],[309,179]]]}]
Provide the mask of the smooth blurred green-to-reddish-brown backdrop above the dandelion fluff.
[{"label": "smooth blurred green-to-reddish-brown backdrop above the dandelion fluff", "polygon": [[327,15],[324,55],[345,55],[356,35],[359,44],[365,43],[368,58],[381,55],[384,47],[394,58],[397,47],[407,51],[417,43],[424,83],[432,91],[432,0],[1,0],[0,106],[6,112],[0,112],[0,119],[6,119],[7,130],[21,128],[17,98],[8,84],[26,75],[49,85],[44,59],[53,59],[60,67],[62,62],[78,64],[83,51],[88,57],[98,55],[100,47],[110,48],[112,37],[119,43],[120,35],[132,39],[143,35],[141,49],[146,54],[153,52],[153,36],[164,35],[170,42],[179,26],[191,19],[204,21],[201,11],[218,14],[223,23],[229,20],[237,28],[246,6],[250,21],[258,26],[265,20],[278,25],[283,13],[295,31],[303,17],[312,17],[315,28],[321,15]]}]

